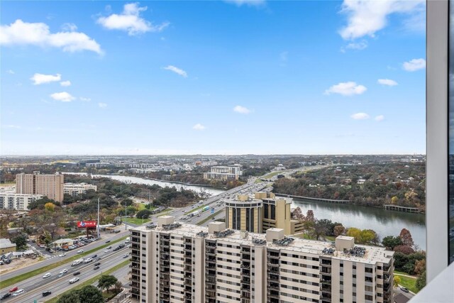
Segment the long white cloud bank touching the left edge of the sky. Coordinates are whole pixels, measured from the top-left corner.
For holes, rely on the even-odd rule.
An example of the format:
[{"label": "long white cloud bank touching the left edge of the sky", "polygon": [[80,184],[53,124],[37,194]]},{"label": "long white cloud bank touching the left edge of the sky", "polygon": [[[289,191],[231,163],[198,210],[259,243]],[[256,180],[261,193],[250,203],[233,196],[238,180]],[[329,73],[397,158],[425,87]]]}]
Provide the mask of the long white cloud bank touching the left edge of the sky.
[{"label": "long white cloud bank touching the left edge of the sky", "polygon": [[45,23],[27,23],[18,19],[9,26],[0,26],[0,45],[38,45],[62,48],[64,52],[92,50],[102,53],[101,46],[84,33],[62,31],[50,33]]}]

